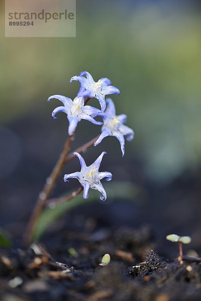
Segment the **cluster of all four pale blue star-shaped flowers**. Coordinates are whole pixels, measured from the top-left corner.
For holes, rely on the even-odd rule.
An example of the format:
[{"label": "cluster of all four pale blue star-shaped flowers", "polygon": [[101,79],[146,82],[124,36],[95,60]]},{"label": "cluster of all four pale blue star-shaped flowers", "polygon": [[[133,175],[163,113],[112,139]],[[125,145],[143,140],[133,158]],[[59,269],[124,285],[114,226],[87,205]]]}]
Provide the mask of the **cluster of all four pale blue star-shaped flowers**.
[{"label": "cluster of all four pale blue star-shaped flowers", "polygon": [[[80,89],[74,100],[62,95],[53,95],[48,98],[48,101],[50,101],[52,98],[56,98],[63,103],[63,106],[59,106],[53,110],[52,117],[55,119],[55,115],[58,112],[66,113],[69,121],[69,135],[73,135],[77,124],[81,119],[88,120],[97,125],[102,125],[101,134],[94,142],[94,146],[99,144],[107,136],[115,136],[120,141],[122,156],[124,156],[124,136],[126,136],[128,141],[131,141],[134,137],[134,132],[131,128],[124,125],[127,116],[125,114],[116,115],[115,104],[112,99],[105,99],[106,95],[114,93],[120,94],[120,90],[112,86],[111,81],[108,78],[100,78],[97,82],[95,82],[90,73],[86,71],[81,72],[79,75],[73,76],[70,79],[70,83],[73,80],[80,83]],[[96,98],[99,101],[100,110],[90,105],[86,105],[84,103],[84,97]],[[102,117],[103,122],[96,121],[94,119],[96,116]],[[82,156],[76,152],[73,153],[73,156],[76,155],[79,159],[81,171],[68,175],[66,174],[64,176],[64,181],[68,182],[67,179],[70,178],[77,179],[83,186],[84,199],[88,198],[89,188],[98,190],[102,194],[100,196],[100,200],[104,201],[107,198],[106,191],[102,183],[100,183],[100,180],[106,178],[106,181],[111,181],[112,174],[110,172],[98,171],[103,156],[106,154],[106,152],[103,152],[94,163],[87,167]]]}]

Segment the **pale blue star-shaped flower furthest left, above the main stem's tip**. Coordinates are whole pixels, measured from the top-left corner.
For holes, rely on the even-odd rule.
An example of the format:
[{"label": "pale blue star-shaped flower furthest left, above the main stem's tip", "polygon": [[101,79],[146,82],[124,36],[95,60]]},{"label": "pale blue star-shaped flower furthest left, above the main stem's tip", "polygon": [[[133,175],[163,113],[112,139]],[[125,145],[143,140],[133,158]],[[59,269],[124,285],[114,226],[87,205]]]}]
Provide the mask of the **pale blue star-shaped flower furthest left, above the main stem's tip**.
[{"label": "pale blue star-shaped flower furthest left, above the main stem's tip", "polygon": [[81,119],[88,120],[98,125],[103,124],[103,122],[99,122],[93,119],[93,117],[99,115],[101,111],[90,105],[84,105],[84,97],[75,97],[72,101],[72,99],[62,95],[53,95],[48,98],[48,101],[50,101],[50,99],[52,98],[57,98],[63,103],[63,106],[59,106],[54,109],[54,111],[52,112],[52,117],[56,119],[57,117],[55,117],[55,115],[58,112],[64,112],[67,114],[69,121],[69,135],[72,135],[74,133],[77,123]]}]

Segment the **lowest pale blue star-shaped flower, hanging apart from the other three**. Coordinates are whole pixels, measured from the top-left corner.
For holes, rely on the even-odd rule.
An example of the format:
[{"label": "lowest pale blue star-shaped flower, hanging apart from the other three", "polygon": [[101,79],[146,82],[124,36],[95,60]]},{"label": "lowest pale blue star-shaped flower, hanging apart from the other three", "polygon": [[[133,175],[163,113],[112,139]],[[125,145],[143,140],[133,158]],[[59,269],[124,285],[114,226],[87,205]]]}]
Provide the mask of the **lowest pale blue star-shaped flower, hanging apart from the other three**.
[{"label": "lowest pale blue star-shaped flower, hanging apart from the other three", "polygon": [[73,153],[73,156],[77,156],[81,165],[81,171],[72,173],[64,176],[64,182],[68,182],[67,179],[75,178],[79,181],[79,183],[83,186],[83,198],[88,198],[88,190],[89,188],[98,190],[102,195],[100,196],[100,200],[105,201],[107,199],[106,191],[100,183],[100,180],[103,178],[107,178],[106,181],[112,180],[112,174],[109,172],[98,172],[100,163],[102,162],[103,156],[107,155],[106,152],[103,152],[90,166],[86,166],[84,159],[79,153]]}]

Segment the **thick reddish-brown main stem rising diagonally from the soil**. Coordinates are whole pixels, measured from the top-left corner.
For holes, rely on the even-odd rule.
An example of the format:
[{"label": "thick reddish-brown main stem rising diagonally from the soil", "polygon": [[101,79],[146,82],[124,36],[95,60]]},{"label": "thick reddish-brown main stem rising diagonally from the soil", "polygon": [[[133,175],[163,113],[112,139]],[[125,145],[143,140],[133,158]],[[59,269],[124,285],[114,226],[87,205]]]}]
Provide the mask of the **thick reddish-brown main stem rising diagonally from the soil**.
[{"label": "thick reddish-brown main stem rising diagonally from the soil", "polygon": [[66,143],[64,145],[63,151],[59,157],[59,160],[57,161],[55,167],[53,168],[53,171],[51,172],[50,176],[46,180],[46,184],[43,187],[42,192],[39,194],[37,203],[35,205],[35,208],[33,210],[33,213],[31,215],[31,218],[29,220],[25,236],[24,236],[24,243],[25,245],[29,245],[32,239],[32,234],[34,230],[35,223],[40,216],[41,212],[43,211],[45,207],[46,200],[50,196],[50,193],[52,192],[54,188],[54,184],[63,168],[65,165],[65,158],[66,155],[69,152],[71,142],[73,140],[73,135],[68,136]]}]

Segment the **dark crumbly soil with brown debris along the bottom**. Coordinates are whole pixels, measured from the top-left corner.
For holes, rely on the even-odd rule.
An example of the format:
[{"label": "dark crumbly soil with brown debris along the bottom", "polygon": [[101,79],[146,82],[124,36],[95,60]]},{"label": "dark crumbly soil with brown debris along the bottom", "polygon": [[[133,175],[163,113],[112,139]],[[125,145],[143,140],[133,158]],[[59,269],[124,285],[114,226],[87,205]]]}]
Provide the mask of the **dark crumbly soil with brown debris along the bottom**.
[{"label": "dark crumbly soil with brown debris along the bottom", "polygon": [[[149,227],[94,229],[94,220],[86,220],[86,227],[82,233],[64,231],[50,253],[38,244],[35,251],[2,249],[1,300],[201,299],[201,265],[166,262],[151,250],[155,238]],[[111,262],[99,266],[105,253]]]}]

